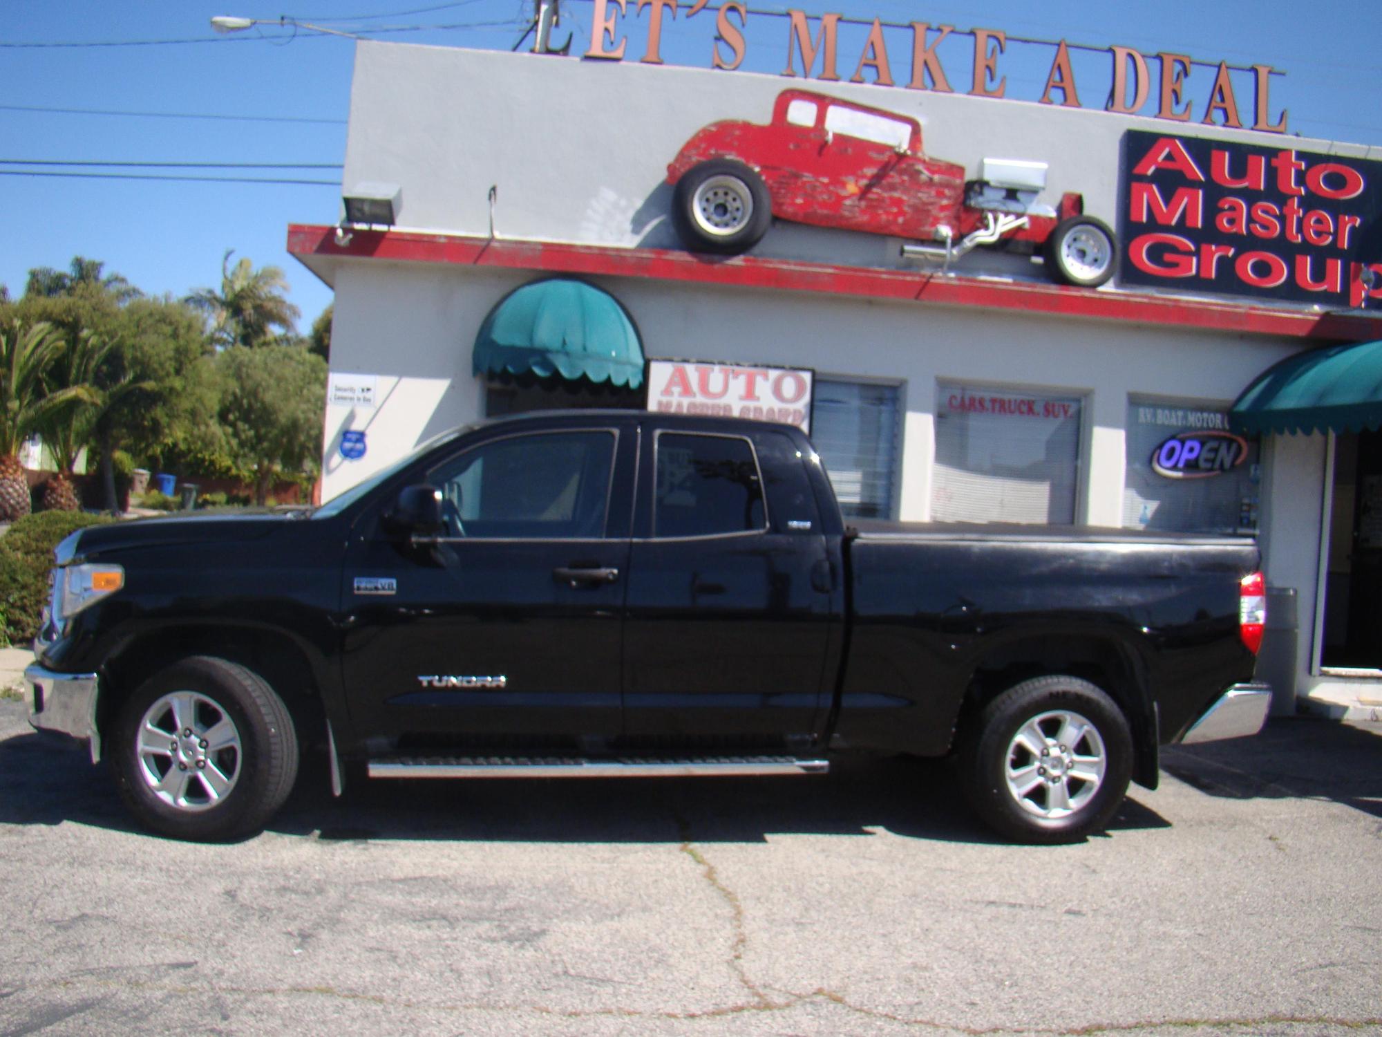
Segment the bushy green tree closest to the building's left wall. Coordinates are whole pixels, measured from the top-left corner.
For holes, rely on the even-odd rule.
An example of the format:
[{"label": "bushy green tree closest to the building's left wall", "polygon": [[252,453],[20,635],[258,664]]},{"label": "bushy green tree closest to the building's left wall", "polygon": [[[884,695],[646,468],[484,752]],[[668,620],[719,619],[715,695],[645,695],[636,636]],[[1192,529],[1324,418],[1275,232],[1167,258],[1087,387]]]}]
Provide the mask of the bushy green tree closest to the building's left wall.
[{"label": "bushy green tree closest to the building's left wall", "polygon": [[227,449],[268,499],[279,474],[311,473],[322,455],[326,362],[292,346],[232,346],[217,357],[224,377],[218,412]]}]

